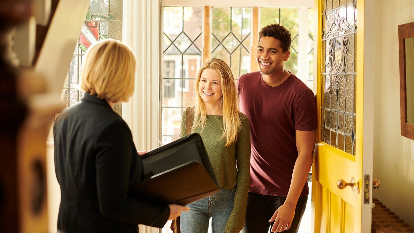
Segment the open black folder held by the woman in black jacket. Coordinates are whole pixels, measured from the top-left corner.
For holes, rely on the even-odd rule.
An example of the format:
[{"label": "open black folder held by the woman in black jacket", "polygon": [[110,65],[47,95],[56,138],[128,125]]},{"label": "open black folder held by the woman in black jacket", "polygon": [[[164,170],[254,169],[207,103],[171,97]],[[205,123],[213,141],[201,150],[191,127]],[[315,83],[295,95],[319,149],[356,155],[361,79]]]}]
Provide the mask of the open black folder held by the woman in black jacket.
[{"label": "open black folder held by the woman in black jacket", "polygon": [[185,205],[219,191],[198,133],[151,150],[141,158],[144,181],[132,191],[143,199]]}]

